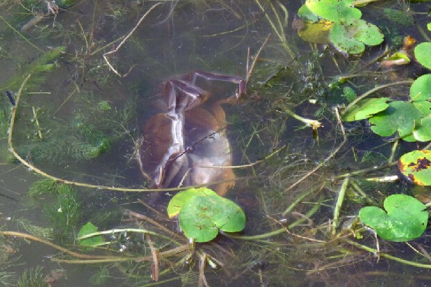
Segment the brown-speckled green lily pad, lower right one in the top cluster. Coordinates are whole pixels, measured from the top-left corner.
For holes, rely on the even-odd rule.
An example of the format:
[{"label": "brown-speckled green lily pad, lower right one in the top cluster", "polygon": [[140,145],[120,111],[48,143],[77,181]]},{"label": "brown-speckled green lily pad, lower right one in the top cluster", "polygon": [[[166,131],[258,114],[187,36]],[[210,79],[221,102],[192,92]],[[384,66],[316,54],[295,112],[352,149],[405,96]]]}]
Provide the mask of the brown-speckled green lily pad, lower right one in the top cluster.
[{"label": "brown-speckled green lily pad, lower right one in the top cluster", "polygon": [[334,23],[330,39],[334,46],[348,54],[361,54],[365,45],[383,42],[383,34],[374,24],[363,19],[345,18]]}]

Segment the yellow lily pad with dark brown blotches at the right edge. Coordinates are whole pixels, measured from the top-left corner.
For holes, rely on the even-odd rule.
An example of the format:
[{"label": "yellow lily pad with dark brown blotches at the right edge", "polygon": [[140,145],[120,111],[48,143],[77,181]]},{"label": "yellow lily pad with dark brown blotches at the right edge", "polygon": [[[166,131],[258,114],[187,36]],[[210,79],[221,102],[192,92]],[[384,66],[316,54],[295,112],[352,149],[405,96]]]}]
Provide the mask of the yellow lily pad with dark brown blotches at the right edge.
[{"label": "yellow lily pad with dark brown blotches at the right edge", "polygon": [[431,186],[431,151],[423,149],[403,154],[398,160],[402,174],[419,186]]}]

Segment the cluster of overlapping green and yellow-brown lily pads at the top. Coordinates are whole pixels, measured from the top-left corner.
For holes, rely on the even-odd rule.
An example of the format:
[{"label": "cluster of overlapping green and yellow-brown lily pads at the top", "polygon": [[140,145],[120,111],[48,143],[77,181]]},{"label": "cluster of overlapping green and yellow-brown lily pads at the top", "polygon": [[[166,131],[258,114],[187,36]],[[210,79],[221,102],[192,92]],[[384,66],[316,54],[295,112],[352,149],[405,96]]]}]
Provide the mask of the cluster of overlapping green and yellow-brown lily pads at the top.
[{"label": "cluster of overlapping green and yellow-brown lily pads at the top", "polygon": [[380,28],[361,19],[361,10],[353,7],[353,0],[307,0],[298,16],[306,22],[299,31],[301,38],[309,42],[329,40],[348,54],[361,54],[366,44],[383,42]]}]

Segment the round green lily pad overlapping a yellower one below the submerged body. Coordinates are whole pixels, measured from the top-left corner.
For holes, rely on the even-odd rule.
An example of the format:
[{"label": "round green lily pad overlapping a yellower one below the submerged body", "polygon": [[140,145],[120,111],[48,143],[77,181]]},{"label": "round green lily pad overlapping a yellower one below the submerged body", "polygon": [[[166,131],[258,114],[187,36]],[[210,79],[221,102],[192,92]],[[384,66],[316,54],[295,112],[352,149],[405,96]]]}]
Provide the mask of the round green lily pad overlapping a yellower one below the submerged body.
[{"label": "round green lily pad overlapping a yellower one below the submerged body", "polygon": [[188,199],[179,212],[179,226],[187,238],[207,242],[217,236],[218,230],[241,231],[245,214],[241,207],[219,195],[195,195]]}]

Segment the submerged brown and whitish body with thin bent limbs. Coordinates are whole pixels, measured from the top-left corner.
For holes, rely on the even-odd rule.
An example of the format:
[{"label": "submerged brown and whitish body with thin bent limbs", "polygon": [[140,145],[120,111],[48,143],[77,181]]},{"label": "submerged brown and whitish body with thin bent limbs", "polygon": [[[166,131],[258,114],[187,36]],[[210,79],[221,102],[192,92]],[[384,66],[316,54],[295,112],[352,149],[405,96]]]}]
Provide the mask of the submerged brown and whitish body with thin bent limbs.
[{"label": "submerged brown and whitish body with thin bent limbs", "polygon": [[[204,86],[212,81],[236,83],[238,90],[211,101],[210,92],[197,84],[198,79]],[[165,112],[147,121],[137,149],[140,170],[153,188],[215,183],[211,188],[224,195],[234,186],[221,104],[234,104],[244,90],[245,81],[240,77],[208,72],[192,72],[161,85]]]}]

